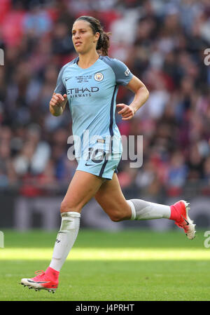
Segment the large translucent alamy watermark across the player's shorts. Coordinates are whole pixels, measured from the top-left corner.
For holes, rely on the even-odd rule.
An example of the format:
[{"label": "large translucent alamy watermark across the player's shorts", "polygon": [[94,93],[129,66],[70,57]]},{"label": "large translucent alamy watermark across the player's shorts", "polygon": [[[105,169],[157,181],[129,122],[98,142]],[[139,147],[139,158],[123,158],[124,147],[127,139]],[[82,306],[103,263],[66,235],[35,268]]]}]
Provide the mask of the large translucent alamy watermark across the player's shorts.
[{"label": "large translucent alamy watermark across the player's shorts", "polygon": [[70,161],[83,159],[90,165],[122,159],[130,161],[131,168],[140,168],[143,164],[143,135],[90,136],[89,130],[84,130],[81,137],[70,135],[67,143],[71,145],[67,152]]}]

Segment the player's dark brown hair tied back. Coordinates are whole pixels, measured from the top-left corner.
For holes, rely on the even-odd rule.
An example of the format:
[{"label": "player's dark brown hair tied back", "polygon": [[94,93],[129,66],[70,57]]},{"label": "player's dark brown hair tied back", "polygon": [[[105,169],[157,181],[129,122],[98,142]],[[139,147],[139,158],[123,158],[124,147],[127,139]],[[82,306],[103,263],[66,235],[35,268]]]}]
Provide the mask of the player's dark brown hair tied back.
[{"label": "player's dark brown hair tied back", "polygon": [[110,45],[109,36],[111,35],[111,33],[104,32],[104,29],[100,21],[97,20],[96,18],[93,18],[92,16],[83,15],[76,19],[76,21],[78,20],[85,20],[89,22],[90,27],[92,28],[93,34],[96,34],[97,32],[99,32],[100,36],[97,42],[97,51],[100,55],[108,55],[108,50],[109,50],[109,45]]}]

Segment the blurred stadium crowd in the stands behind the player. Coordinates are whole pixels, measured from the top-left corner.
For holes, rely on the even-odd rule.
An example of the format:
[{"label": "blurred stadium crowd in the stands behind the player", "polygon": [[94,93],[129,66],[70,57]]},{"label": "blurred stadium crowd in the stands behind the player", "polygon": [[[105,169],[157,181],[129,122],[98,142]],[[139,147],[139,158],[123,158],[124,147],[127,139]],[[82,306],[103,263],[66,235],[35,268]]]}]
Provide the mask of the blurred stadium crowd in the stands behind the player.
[{"label": "blurred stadium crowd in the stands behind the player", "polygon": [[[209,0],[0,0],[0,187],[25,196],[66,187],[69,108],[54,117],[48,104],[59,69],[75,58],[71,26],[80,15],[112,33],[109,56],[141,79],[150,98],[134,119],[116,116],[122,135],[144,135],[144,161],[121,161],[123,189],[168,196],[196,187],[210,194]],[[120,88],[118,102],[133,95]]]}]

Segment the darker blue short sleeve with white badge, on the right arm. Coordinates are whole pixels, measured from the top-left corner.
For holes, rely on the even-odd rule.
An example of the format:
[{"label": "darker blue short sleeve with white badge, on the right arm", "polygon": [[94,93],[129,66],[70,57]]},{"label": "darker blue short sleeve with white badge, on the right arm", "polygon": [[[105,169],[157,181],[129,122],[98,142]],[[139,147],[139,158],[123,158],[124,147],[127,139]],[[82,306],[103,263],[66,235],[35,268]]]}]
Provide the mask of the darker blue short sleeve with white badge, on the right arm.
[{"label": "darker blue short sleeve with white badge, on the right arm", "polygon": [[125,63],[118,59],[113,59],[112,68],[113,72],[116,74],[116,83],[122,86],[127,86],[133,77],[130,69],[128,69]]}]

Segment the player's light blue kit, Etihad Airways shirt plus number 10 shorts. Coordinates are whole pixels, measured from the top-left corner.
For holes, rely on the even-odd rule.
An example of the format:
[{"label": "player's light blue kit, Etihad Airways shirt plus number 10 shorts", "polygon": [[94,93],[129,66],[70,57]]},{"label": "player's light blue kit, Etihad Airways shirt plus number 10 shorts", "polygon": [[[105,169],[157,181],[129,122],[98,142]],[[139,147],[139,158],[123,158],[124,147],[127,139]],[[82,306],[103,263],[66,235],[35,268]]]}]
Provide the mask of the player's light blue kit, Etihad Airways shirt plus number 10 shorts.
[{"label": "player's light blue kit, Etihad Airways shirt plus number 10 shorts", "polygon": [[75,58],[60,70],[55,93],[66,93],[69,100],[77,170],[112,179],[123,152],[116,96],[132,76],[123,62],[107,56],[87,69]]}]

